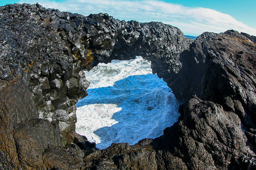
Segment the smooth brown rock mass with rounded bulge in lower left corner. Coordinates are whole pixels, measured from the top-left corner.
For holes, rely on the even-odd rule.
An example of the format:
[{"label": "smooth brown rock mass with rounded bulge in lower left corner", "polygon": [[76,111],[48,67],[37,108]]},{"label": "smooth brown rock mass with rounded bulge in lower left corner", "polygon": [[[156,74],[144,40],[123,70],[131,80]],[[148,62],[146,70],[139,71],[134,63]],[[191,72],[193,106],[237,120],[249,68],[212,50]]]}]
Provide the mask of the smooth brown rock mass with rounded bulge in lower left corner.
[{"label": "smooth brown rock mass with rounded bulge in lower left corner", "polygon": [[19,76],[2,84],[0,99],[0,168],[42,168],[44,150],[60,146],[59,128],[38,119],[31,92]]}]

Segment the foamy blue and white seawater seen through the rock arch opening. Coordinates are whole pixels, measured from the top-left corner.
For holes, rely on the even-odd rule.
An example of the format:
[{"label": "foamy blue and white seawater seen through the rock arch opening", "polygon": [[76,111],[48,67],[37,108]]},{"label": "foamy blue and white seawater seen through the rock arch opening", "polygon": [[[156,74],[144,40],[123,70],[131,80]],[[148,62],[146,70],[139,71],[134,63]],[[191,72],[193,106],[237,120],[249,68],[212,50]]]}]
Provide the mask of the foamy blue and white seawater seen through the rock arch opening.
[{"label": "foamy blue and white seawater seen through the rock arch opening", "polygon": [[77,133],[100,149],[163,135],[177,121],[179,103],[150,66],[150,61],[136,57],[85,71],[90,86],[88,96],[76,104]]}]

